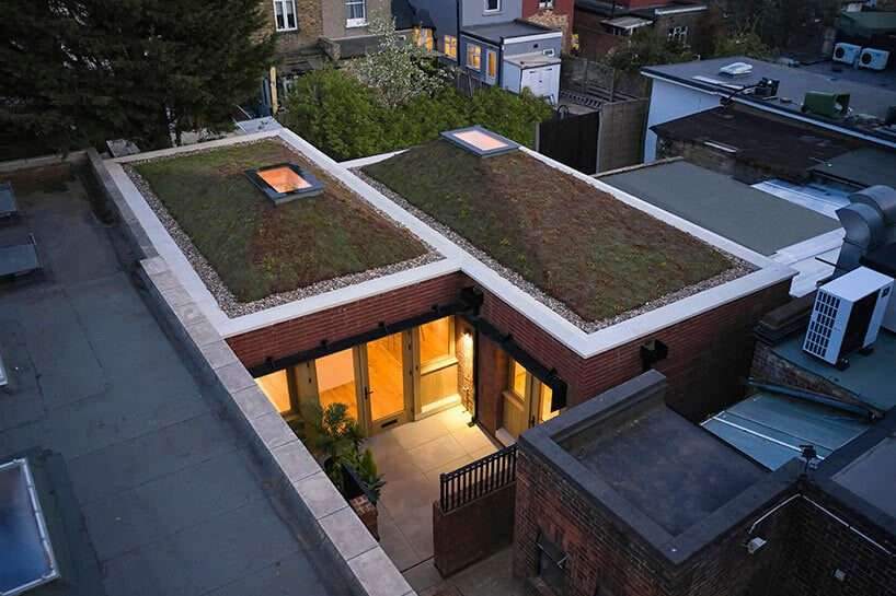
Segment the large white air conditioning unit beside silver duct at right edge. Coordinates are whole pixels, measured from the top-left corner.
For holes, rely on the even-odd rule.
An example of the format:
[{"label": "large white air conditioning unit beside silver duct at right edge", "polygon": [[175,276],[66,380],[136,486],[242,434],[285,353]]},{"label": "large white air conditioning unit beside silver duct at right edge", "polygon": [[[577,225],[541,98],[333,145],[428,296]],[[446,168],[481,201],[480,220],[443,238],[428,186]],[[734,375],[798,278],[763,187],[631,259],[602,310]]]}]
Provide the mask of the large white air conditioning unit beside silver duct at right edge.
[{"label": "large white air conditioning unit beside silver duct at right edge", "polygon": [[869,349],[893,293],[893,278],[860,267],[818,289],[803,350],[838,369]]}]

